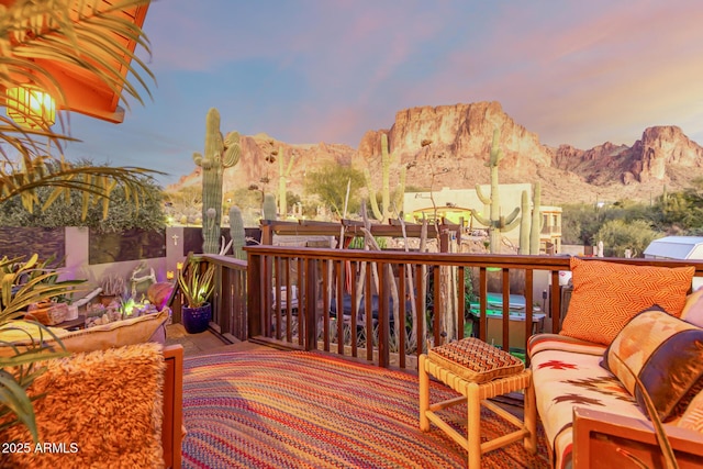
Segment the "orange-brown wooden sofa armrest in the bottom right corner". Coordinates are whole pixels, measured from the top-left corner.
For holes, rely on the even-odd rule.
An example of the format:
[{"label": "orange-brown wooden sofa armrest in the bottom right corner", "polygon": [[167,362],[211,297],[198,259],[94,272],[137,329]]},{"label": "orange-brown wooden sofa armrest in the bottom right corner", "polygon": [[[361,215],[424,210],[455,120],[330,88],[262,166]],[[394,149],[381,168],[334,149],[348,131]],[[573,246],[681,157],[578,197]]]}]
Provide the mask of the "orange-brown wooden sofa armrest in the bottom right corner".
[{"label": "orange-brown wooden sofa armrest in the bottom right corner", "polygon": [[[679,467],[700,468],[703,460],[703,434],[665,425]],[[573,409],[573,468],[637,467],[626,454],[645,467],[663,468],[663,456],[651,422],[591,409]]]}]

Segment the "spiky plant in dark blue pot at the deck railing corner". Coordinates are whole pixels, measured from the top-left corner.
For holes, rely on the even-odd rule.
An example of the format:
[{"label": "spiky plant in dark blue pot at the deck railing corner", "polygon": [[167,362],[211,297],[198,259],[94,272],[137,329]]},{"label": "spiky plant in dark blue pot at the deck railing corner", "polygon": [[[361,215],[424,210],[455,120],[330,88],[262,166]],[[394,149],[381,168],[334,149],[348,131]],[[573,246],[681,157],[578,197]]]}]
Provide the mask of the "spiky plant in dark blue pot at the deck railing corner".
[{"label": "spiky plant in dark blue pot at the deck railing corner", "polygon": [[186,332],[204,332],[212,319],[212,308],[208,299],[214,289],[215,266],[208,264],[203,270],[198,259],[190,259],[178,273],[178,287],[183,295],[181,321]]}]

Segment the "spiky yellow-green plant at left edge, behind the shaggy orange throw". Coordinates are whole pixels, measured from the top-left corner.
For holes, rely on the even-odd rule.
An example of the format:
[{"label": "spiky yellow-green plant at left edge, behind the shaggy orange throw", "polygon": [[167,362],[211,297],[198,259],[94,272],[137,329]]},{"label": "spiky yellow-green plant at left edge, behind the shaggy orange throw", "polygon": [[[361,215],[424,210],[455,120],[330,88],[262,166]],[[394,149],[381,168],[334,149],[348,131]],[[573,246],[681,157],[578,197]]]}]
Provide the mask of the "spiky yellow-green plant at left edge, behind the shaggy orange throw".
[{"label": "spiky yellow-green plant at left edge, behind the shaggy orange throw", "polygon": [[[82,280],[56,281],[56,271],[46,269],[37,261],[36,254],[26,263],[20,258],[0,259],[0,333],[15,332],[25,335],[26,346],[18,346],[14,340],[0,338],[0,346],[11,350],[0,355],[0,431],[7,426],[22,423],[26,425],[34,440],[38,440],[32,399],[26,389],[41,376],[45,367],[42,361],[67,355],[60,340],[46,326],[34,323],[38,337],[26,328],[16,326],[16,320],[24,315],[32,303],[71,294]],[[52,349],[46,339],[53,338],[59,349]],[[14,417],[5,418],[13,414]]]}]

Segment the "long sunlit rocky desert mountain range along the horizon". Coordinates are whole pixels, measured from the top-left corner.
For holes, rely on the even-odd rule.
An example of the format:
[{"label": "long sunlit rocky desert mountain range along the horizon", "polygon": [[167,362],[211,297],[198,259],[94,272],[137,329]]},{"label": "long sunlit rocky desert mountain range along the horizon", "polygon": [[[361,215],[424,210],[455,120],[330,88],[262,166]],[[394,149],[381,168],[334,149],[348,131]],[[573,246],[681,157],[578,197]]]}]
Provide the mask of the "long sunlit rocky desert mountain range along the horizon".
[{"label": "long sunlit rocky desert mountain range along the horizon", "polygon": [[[676,126],[646,129],[632,147],[606,142],[585,150],[567,144],[554,148],[543,145],[537,134],[515,123],[500,103],[478,102],[399,111],[390,129],[368,131],[356,150],[339,144],[287,144],[266,134],[245,136],[239,164],[225,171],[225,191],[259,183],[266,177],[272,190],[279,169],[278,163],[267,163],[267,157],[279,147],[286,161],[295,154],[289,178],[293,192],[302,193],[305,172],[325,163],[369,168],[379,187],[383,133],[388,134],[394,156],[394,175],[400,165],[410,167],[409,188],[472,188],[489,182],[486,161],[495,127],[501,131],[504,154],[499,167],[500,181],[542,181],[543,203],[593,202],[596,198],[649,200],[660,194],[665,185],[668,190],[682,189],[692,178],[703,176],[703,147]],[[422,147],[423,139],[433,143]],[[192,174],[169,189],[199,179],[198,174]],[[391,183],[397,181],[397,176],[392,176]]]}]

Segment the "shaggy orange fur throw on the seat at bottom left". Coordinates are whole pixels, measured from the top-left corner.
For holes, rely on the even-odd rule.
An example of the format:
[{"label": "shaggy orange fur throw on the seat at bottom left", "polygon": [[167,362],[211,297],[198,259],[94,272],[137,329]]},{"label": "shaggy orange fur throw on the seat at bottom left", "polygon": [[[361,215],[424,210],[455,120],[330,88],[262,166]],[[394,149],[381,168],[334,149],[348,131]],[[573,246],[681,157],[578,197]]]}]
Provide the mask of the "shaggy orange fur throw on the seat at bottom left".
[{"label": "shaggy orange fur throw on the seat at bottom left", "polygon": [[[166,364],[159,344],[74,354],[46,361],[27,389],[41,444],[53,450],[3,455],[13,468],[164,467],[161,425]],[[0,432],[2,442],[32,442],[23,425]]]}]

